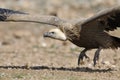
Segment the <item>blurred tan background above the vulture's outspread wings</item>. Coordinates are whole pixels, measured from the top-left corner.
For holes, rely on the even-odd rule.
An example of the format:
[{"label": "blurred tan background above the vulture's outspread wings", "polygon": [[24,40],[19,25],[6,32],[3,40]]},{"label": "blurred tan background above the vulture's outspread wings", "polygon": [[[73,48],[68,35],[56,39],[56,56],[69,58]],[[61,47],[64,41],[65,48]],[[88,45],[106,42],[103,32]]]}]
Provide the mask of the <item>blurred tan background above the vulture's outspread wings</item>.
[{"label": "blurred tan background above the vulture's outspread wings", "polygon": [[119,3],[119,0],[0,0],[1,8],[57,15],[67,19],[88,17]]}]

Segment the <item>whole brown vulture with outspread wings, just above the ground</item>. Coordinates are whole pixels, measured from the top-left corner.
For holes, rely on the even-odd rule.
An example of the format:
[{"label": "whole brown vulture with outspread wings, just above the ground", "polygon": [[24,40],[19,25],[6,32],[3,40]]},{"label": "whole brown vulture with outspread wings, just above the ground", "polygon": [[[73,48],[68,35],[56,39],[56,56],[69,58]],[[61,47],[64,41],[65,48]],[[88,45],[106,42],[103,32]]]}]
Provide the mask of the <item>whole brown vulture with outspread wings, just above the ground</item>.
[{"label": "whole brown vulture with outspread wings, just above the ground", "polygon": [[[79,55],[78,65],[83,61],[84,57],[89,58],[85,54],[88,50],[97,49],[93,59],[95,65],[96,60],[99,59],[101,49],[117,49],[120,47],[120,38],[107,33],[120,27],[120,6],[105,9],[93,17],[77,21],[65,21],[55,16],[32,16],[12,10],[9,10],[9,12],[3,10],[4,12],[2,12],[2,10],[0,9],[1,21],[36,22],[58,27],[60,30],[50,30],[44,36],[59,40],[69,40],[79,47],[84,47],[85,49]],[[64,37],[58,35],[59,32],[62,32]]]}]

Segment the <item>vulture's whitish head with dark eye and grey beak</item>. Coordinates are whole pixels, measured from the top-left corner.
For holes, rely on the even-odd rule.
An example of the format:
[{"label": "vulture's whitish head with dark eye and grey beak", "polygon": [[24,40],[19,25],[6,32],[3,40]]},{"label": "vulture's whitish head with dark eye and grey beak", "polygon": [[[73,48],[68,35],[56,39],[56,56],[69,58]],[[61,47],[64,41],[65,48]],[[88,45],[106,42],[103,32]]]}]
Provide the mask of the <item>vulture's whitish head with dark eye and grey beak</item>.
[{"label": "vulture's whitish head with dark eye and grey beak", "polygon": [[51,29],[50,31],[44,33],[44,37],[66,41],[66,35],[60,29]]}]

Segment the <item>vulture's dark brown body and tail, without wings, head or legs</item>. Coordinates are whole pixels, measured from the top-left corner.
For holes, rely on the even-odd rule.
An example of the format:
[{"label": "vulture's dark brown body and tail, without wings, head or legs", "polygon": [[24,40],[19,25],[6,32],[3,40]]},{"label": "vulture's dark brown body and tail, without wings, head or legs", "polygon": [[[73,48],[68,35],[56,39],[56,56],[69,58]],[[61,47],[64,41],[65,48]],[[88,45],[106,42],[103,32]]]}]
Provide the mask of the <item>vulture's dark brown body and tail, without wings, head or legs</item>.
[{"label": "vulture's dark brown body and tail, without wings, head or legs", "polygon": [[[96,27],[95,27],[96,28]],[[101,29],[76,29],[74,28],[70,30],[66,30],[66,35],[68,39],[79,47],[85,47],[87,49],[95,49],[95,48],[118,48],[120,47],[120,39],[113,36],[110,36],[104,31],[100,31]],[[101,28],[101,27],[98,27]],[[74,33],[75,32],[75,33]]]}]

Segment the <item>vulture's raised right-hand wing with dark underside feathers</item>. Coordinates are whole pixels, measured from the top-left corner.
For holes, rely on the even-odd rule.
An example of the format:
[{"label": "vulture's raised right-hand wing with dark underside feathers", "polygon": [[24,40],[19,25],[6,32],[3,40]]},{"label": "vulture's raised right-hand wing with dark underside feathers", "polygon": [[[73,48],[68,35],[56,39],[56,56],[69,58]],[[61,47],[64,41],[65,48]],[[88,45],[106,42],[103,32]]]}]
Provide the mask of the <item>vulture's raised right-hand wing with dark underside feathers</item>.
[{"label": "vulture's raised right-hand wing with dark underside feathers", "polygon": [[120,27],[120,6],[105,9],[99,12],[98,14],[96,14],[95,16],[86,19],[80,25],[81,26],[100,25],[101,27],[103,27],[102,28],[103,30],[113,31],[117,29],[117,27]]}]

